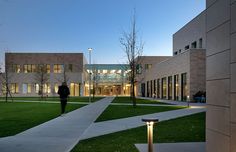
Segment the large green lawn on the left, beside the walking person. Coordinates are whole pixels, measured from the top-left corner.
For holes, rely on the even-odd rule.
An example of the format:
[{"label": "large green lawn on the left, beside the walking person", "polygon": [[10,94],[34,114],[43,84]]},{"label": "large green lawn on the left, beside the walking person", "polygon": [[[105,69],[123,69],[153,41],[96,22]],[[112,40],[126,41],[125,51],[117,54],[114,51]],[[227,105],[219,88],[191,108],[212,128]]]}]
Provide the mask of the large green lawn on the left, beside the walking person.
[{"label": "large green lawn on the left, beside the walking person", "polygon": [[[66,112],[82,107],[67,104]],[[60,115],[60,104],[0,102],[0,137],[15,135]]]}]

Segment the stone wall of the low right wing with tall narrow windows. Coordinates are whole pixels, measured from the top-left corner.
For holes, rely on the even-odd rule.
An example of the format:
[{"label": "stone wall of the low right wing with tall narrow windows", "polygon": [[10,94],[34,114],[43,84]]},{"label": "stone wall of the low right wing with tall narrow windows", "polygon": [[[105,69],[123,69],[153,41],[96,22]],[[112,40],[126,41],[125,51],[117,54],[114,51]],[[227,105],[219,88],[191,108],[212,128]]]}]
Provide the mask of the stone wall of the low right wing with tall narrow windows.
[{"label": "stone wall of the low right wing with tall narrow windows", "polygon": [[[172,77],[172,99],[174,100],[174,75],[179,75],[179,86],[181,88],[181,74],[187,73],[187,94],[192,100],[192,96],[198,91],[205,91],[205,49],[189,49],[186,52],[173,56],[167,60],[153,65],[153,68],[146,71],[145,77],[140,83],[147,84],[147,81],[168,79]],[[160,82],[161,86],[161,82]],[[154,87],[154,85],[153,85]],[[138,87],[140,88],[140,87]],[[154,90],[154,88],[152,89]],[[147,96],[147,87],[146,94]],[[181,99],[181,90],[179,90],[179,100]],[[140,92],[140,90],[139,90]],[[140,94],[140,93],[139,93]],[[160,94],[162,94],[160,89]],[[150,96],[149,96],[150,97]],[[167,87],[168,97],[168,87]]]}]

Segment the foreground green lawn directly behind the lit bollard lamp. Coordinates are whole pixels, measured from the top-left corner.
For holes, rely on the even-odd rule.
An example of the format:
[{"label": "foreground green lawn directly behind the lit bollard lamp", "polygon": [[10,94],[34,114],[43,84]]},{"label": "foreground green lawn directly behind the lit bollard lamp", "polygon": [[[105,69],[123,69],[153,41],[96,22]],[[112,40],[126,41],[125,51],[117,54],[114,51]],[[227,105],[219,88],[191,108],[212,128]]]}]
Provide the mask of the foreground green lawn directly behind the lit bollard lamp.
[{"label": "foreground green lawn directly behind the lit bollard lamp", "polygon": [[[146,126],[80,141],[72,152],[138,152],[135,143],[147,143]],[[205,113],[154,125],[154,143],[205,141]]]}]

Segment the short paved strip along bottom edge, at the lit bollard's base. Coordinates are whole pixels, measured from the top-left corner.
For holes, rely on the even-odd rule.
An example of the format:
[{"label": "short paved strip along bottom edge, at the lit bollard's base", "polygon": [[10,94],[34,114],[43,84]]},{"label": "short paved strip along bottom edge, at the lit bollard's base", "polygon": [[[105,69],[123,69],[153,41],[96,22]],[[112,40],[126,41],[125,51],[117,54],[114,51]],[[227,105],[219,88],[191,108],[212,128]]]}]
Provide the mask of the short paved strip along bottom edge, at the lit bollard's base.
[{"label": "short paved strip along bottom edge, at the lit bollard's base", "polygon": [[[147,144],[135,144],[140,152],[147,152]],[[206,143],[163,143],[154,144],[153,152],[205,152]]]}]

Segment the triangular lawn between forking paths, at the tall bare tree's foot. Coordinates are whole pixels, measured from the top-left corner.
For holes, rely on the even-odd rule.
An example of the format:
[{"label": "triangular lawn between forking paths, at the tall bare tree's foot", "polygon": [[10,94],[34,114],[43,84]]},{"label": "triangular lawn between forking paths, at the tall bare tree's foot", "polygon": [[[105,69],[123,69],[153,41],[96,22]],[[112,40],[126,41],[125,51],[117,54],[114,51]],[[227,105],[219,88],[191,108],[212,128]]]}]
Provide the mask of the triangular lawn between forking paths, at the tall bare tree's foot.
[{"label": "triangular lawn between forking paths, at the tall bare tree's foot", "polygon": [[98,117],[96,122],[106,121],[119,118],[127,118],[132,116],[164,112],[170,110],[182,109],[181,106],[137,106],[132,105],[109,105],[106,110]]}]

